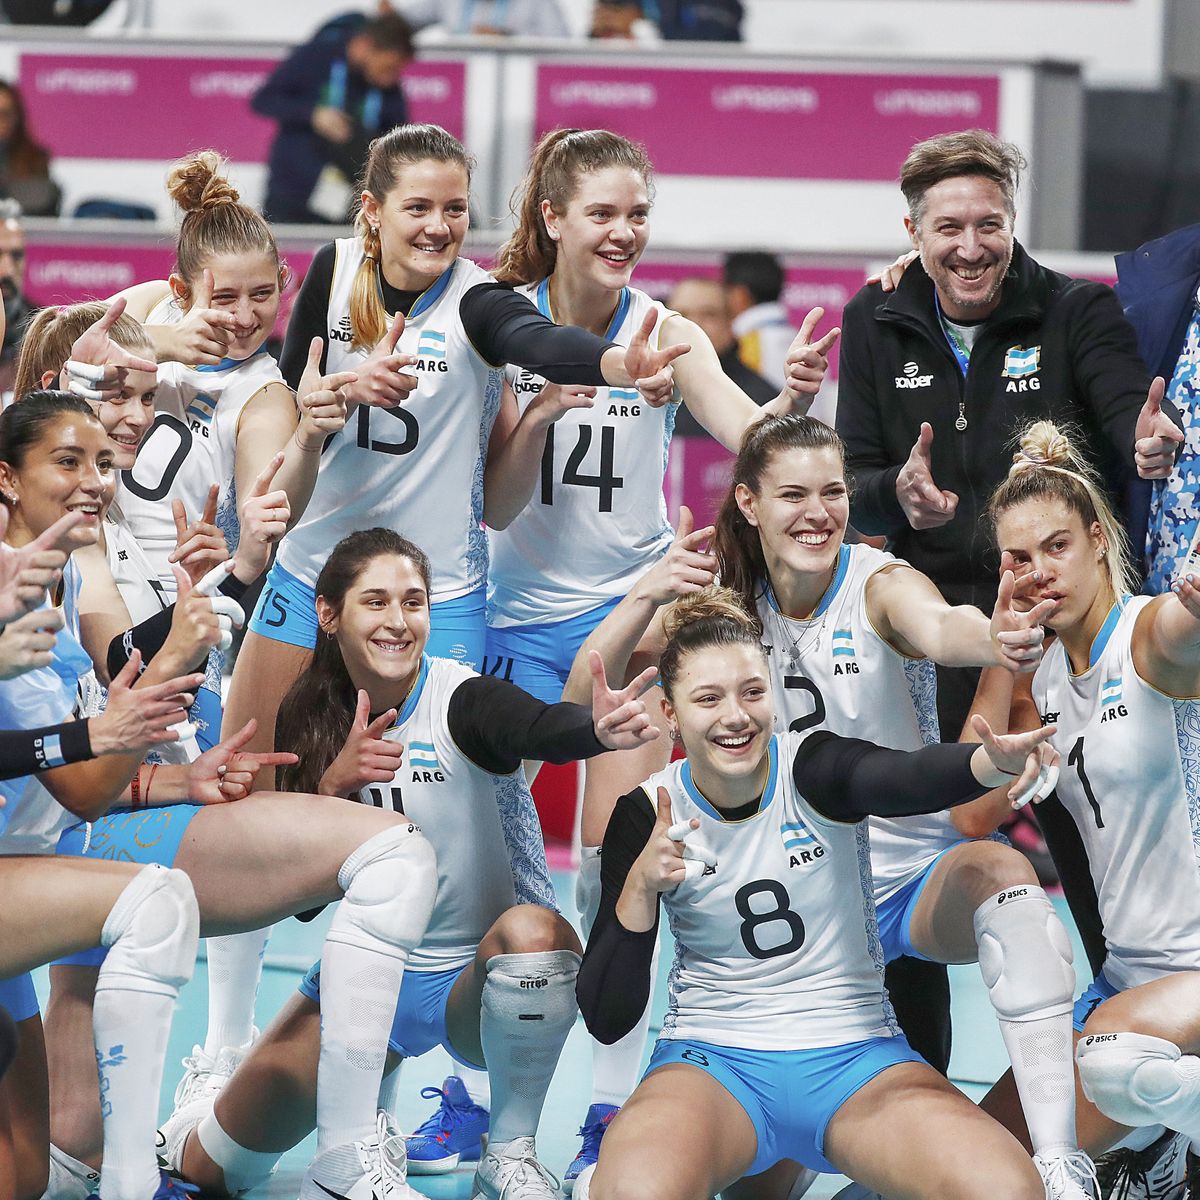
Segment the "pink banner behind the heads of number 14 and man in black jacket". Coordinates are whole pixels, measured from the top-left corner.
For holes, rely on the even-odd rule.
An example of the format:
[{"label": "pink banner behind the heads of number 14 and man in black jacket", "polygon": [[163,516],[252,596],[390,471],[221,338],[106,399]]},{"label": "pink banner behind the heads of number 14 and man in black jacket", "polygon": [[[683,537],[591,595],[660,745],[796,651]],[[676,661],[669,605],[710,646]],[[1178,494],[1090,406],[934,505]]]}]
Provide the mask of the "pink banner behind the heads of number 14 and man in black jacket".
[{"label": "pink banner behind the heads of number 14 and man in black jacket", "polygon": [[893,182],[914,142],[998,122],[994,74],[538,67],[538,137],[613,130],[667,175]]}]

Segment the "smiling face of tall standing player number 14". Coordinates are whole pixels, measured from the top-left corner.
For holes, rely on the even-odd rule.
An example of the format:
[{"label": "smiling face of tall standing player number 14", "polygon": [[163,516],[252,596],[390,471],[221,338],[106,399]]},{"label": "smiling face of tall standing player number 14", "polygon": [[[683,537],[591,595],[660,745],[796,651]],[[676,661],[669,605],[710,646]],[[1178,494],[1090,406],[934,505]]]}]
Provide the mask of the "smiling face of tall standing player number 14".
[{"label": "smiling face of tall standing player number 14", "polygon": [[558,242],[554,274],[606,290],[629,284],[650,236],[650,198],[632,167],[604,167],[580,176],[564,212],[542,202],[542,220]]}]

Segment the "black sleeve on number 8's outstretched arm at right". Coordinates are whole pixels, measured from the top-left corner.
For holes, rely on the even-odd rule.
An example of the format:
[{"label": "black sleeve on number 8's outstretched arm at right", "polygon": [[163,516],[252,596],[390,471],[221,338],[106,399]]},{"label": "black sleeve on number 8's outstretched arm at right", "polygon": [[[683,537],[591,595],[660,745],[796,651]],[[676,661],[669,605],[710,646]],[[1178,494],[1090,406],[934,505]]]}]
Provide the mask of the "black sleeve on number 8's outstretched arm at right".
[{"label": "black sleeve on number 8's outstretched arm at right", "polygon": [[990,788],[971,772],[976,745],[886,750],[836,733],[810,734],[792,760],[800,794],[830,821],[908,817],[966,804]]}]

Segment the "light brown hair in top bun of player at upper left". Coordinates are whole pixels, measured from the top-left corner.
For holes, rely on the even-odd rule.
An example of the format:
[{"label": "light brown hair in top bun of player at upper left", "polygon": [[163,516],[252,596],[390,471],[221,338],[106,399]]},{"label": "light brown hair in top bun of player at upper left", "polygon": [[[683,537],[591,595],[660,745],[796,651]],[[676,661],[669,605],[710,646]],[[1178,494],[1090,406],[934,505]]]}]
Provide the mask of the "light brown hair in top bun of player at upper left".
[{"label": "light brown hair in top bun of player at upper left", "polygon": [[[224,167],[215,150],[200,150],[180,158],[167,175],[167,194],[184,211],[175,271],[185,283],[180,298],[185,302],[191,302],[192,288],[217,254],[266,254],[280,265],[271,227],[260,212],[241,203]],[[281,288],[283,278],[281,270]]]}]

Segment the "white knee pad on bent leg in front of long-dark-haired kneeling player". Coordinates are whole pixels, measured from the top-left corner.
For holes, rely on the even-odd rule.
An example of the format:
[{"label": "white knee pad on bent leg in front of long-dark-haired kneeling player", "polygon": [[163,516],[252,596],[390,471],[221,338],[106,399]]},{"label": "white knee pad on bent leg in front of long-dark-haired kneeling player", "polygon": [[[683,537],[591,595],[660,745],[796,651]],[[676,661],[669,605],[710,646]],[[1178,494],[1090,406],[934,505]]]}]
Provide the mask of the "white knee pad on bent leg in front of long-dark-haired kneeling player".
[{"label": "white knee pad on bent leg in front of long-dark-haired kneeling player", "polygon": [[337,883],[344,895],[326,938],[404,959],[430,923],[438,863],[416,826],[397,824],[359,846]]}]

